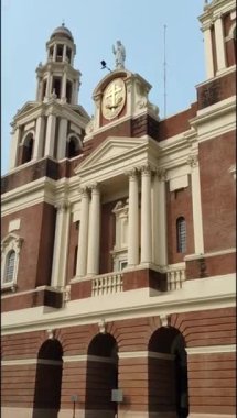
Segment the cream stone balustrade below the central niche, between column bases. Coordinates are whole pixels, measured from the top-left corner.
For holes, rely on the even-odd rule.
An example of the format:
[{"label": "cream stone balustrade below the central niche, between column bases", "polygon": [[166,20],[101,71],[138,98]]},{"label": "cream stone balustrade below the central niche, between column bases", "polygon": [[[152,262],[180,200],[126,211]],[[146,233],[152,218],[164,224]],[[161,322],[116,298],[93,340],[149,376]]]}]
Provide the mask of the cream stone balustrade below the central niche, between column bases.
[{"label": "cream stone balustrade below the central niche, between column bases", "polygon": [[108,273],[93,279],[93,296],[122,292],[122,273]]}]

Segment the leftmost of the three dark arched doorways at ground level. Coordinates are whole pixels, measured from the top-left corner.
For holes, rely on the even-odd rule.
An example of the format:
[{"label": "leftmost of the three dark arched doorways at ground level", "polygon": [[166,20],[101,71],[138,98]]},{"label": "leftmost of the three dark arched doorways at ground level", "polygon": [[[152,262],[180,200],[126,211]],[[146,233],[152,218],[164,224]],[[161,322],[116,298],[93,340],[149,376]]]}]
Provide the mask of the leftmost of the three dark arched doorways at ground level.
[{"label": "leftmost of the three dark arched doorways at ground level", "polygon": [[37,355],[32,418],[56,418],[61,405],[63,349],[57,340],[43,343]]}]

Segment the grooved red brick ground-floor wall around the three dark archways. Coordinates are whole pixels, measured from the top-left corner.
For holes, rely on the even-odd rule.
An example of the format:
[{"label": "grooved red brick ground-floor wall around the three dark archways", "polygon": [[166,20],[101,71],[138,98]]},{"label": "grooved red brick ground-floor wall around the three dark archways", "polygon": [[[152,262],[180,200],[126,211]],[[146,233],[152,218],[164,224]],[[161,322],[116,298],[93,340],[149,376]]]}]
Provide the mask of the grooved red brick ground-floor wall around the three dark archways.
[{"label": "grooved red brick ground-floor wall around the three dark archways", "polygon": [[[187,348],[226,345],[235,343],[236,318],[234,308],[173,314],[171,327],[179,329]],[[114,336],[119,353],[147,351],[149,340],[160,327],[159,317],[134,318],[107,323],[107,332]],[[132,330],[132,332],[131,332]],[[63,346],[64,356],[87,354],[93,338],[99,332],[97,324],[85,324],[57,329],[55,338]],[[45,331],[2,337],[2,359],[35,359]],[[188,394],[191,411],[204,414],[234,414],[235,365],[233,353],[188,355]],[[151,365],[152,362],[150,362]],[[155,362],[155,367],[159,361]],[[168,363],[168,362],[166,362]],[[169,363],[170,364],[170,363]],[[159,365],[160,373],[165,362]],[[148,358],[119,360],[119,387],[123,389],[122,410],[148,410],[148,395],[152,397],[152,385],[148,386]],[[154,364],[153,364],[154,366]],[[82,406],[86,394],[86,361],[64,362],[62,378],[62,408],[71,408],[71,395],[79,394]],[[30,406],[34,394],[35,365],[2,367],[3,406]],[[150,376],[151,377],[151,376]],[[165,376],[164,376],[165,377]],[[163,378],[164,378],[163,377]],[[150,378],[150,384],[151,384]],[[166,381],[170,385],[171,381]],[[14,387],[12,394],[12,386]],[[29,391],[24,393],[24,388]],[[164,386],[162,386],[164,387]],[[148,391],[149,388],[149,391]],[[155,391],[157,391],[155,386]],[[228,389],[228,391],[227,391]],[[169,394],[171,394],[169,392]],[[207,396],[208,394],[208,396]],[[161,394],[160,394],[161,395]],[[151,399],[150,399],[151,400]],[[166,399],[166,404],[168,404]],[[170,400],[169,400],[170,403]],[[166,405],[165,402],[163,405]],[[152,403],[150,403],[151,408]],[[154,406],[154,404],[153,404]]]}]

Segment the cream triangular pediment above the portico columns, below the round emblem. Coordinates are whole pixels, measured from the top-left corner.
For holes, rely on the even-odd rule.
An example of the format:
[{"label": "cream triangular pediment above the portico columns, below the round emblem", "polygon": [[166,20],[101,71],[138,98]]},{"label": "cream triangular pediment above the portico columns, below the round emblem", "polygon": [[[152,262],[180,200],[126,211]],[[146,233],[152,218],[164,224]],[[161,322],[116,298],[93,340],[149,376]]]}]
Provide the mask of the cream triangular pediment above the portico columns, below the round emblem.
[{"label": "cream triangular pediment above the portico columns, below the round emblem", "polygon": [[109,136],[99,145],[78,167],[76,174],[83,174],[88,169],[95,170],[101,166],[114,165],[118,161],[127,160],[133,151],[138,151],[146,143],[144,139],[127,136]]}]

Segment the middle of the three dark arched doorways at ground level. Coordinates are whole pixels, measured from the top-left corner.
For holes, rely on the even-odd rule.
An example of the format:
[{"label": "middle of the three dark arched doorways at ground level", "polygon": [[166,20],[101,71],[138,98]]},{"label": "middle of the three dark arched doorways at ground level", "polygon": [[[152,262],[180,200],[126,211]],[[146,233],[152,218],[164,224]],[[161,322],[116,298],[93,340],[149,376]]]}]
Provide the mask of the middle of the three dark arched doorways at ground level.
[{"label": "middle of the three dark arched doorways at ground level", "polygon": [[96,336],[88,348],[85,418],[115,418],[111,391],[118,387],[118,348],[110,334]]}]

